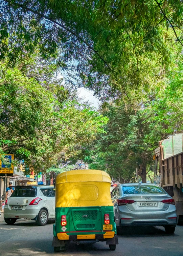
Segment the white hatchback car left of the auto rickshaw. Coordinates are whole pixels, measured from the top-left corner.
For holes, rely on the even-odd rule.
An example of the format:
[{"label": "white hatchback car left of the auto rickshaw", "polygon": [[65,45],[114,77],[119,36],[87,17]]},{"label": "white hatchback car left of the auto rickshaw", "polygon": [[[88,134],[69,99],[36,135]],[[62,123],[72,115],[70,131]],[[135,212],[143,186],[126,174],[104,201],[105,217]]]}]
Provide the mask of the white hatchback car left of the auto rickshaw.
[{"label": "white hatchback car left of the auto rickshaw", "polygon": [[16,186],[6,200],[4,220],[14,224],[17,219],[36,220],[40,226],[55,218],[55,189],[53,186]]}]

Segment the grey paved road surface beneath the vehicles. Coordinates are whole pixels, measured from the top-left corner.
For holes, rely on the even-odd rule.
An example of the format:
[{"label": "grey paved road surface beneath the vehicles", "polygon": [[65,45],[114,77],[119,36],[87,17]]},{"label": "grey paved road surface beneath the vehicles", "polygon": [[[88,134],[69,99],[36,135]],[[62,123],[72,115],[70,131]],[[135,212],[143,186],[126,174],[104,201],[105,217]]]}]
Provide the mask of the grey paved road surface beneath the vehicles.
[{"label": "grey paved road surface beneath the vehicles", "polygon": [[0,222],[1,256],[183,256],[183,226],[177,226],[174,235],[164,228],[125,228],[118,236],[116,251],[110,251],[105,242],[76,245],[70,243],[65,251],[54,253],[51,247],[52,225],[37,227],[31,220],[14,225]]}]

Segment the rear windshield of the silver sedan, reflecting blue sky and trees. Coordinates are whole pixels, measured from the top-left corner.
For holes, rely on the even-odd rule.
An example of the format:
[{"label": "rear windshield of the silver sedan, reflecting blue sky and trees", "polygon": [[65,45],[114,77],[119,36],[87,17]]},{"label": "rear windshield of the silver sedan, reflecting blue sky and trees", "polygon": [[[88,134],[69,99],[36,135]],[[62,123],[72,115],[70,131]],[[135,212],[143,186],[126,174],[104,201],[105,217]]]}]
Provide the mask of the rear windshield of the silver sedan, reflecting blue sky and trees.
[{"label": "rear windshield of the silver sedan, reflecting blue sky and trees", "polygon": [[165,191],[158,186],[123,186],[123,194],[165,194]]}]

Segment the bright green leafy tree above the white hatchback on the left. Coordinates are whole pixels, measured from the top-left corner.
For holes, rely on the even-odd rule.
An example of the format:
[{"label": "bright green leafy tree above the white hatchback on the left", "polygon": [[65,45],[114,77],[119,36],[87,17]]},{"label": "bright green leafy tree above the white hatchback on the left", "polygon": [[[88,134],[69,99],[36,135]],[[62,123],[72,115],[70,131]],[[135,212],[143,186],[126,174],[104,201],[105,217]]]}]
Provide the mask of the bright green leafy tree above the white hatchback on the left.
[{"label": "bright green leafy tree above the white hatchback on the left", "polygon": [[88,104],[66,99],[60,81],[38,79],[39,72],[33,78],[27,70],[5,70],[3,63],[1,67],[0,151],[24,159],[27,172],[45,172],[59,159],[77,155],[103,131],[107,119]]}]

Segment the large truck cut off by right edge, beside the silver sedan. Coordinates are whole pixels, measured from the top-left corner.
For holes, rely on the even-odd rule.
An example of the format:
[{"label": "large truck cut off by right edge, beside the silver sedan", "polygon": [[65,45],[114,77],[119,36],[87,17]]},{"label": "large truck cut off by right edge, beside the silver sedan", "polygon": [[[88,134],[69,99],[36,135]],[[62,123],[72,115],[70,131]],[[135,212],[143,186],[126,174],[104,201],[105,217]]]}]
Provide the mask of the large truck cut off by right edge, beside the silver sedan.
[{"label": "large truck cut off by right edge, beside the silver sedan", "polygon": [[183,134],[169,135],[155,150],[154,183],[176,203],[178,222],[183,224]]}]

